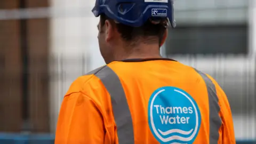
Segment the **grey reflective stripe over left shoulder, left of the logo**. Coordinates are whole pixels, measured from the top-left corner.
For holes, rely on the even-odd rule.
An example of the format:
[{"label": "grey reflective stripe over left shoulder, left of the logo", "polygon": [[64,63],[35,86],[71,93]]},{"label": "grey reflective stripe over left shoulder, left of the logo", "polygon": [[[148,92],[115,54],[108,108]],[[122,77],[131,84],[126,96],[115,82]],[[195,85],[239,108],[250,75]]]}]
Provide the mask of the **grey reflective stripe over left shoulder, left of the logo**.
[{"label": "grey reflective stripe over left shoulder, left of the logo", "polygon": [[94,75],[101,80],[110,94],[119,144],[134,143],[132,116],[120,79],[108,66]]}]

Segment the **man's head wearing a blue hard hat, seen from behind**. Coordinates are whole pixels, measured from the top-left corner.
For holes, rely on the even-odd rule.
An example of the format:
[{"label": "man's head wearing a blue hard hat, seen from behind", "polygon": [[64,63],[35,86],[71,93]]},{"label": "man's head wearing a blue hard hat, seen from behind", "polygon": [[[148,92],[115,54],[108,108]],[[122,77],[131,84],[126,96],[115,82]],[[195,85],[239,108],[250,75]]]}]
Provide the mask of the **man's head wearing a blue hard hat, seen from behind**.
[{"label": "man's head wearing a blue hard hat, seen from behind", "polygon": [[150,45],[157,48],[155,53],[159,54],[167,35],[168,19],[173,27],[175,25],[171,0],[126,1],[98,0],[92,10],[96,17],[100,16],[98,39],[106,63],[125,59],[134,51],[152,52]]}]

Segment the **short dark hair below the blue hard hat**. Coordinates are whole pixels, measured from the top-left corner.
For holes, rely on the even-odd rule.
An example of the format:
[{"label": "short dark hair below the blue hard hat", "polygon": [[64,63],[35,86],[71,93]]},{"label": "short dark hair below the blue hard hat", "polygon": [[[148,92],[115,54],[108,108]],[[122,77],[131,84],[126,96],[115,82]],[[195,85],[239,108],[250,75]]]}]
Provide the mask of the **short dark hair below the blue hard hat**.
[{"label": "short dark hair below the blue hard hat", "polygon": [[[115,23],[114,20],[108,18],[106,14],[101,14],[100,25],[104,26],[106,20],[109,20],[111,25]],[[156,36],[158,37],[158,43],[160,45],[166,30],[166,27],[163,25],[163,22],[160,22],[159,24],[155,25],[150,20],[147,20],[145,24],[140,27],[131,27],[124,25],[122,23],[115,23],[114,25],[116,25],[117,31],[121,34],[123,40],[127,42],[134,42],[139,37],[148,38],[148,42],[152,42],[152,39],[150,39],[149,37]]]}]

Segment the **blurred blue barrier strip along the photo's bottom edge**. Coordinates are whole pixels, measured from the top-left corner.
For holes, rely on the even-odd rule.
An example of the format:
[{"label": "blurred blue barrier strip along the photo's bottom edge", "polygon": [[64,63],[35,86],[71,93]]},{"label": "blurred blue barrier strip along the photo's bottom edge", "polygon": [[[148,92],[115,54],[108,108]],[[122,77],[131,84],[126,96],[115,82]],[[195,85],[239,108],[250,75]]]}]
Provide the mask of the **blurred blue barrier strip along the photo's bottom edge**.
[{"label": "blurred blue barrier strip along the photo's bottom edge", "polygon": [[[0,144],[54,144],[54,134],[0,133]],[[236,144],[256,144],[256,140],[237,140]]]}]

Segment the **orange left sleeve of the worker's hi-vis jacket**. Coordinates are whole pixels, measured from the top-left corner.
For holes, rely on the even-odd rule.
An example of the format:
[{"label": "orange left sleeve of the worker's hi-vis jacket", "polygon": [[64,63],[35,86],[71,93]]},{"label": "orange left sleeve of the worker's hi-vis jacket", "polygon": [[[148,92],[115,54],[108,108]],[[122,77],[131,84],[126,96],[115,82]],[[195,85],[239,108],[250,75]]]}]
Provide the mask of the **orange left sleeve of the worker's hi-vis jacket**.
[{"label": "orange left sleeve of the worker's hi-vis jacket", "polygon": [[105,129],[95,102],[81,92],[63,99],[55,134],[55,144],[104,143]]}]

